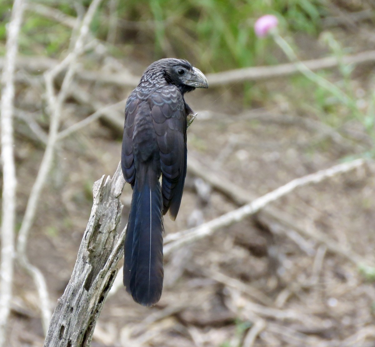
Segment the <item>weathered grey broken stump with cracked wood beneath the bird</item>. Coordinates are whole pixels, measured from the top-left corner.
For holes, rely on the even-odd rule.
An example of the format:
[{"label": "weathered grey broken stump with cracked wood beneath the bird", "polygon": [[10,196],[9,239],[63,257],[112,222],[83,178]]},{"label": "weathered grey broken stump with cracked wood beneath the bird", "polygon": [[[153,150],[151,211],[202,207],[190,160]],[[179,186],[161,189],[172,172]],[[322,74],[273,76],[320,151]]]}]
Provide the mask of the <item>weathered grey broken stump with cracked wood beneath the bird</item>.
[{"label": "weathered grey broken stump with cracked wood beneath the bird", "polygon": [[123,205],[124,179],[120,164],[113,178],[93,187],[94,203],[64,294],[57,301],[44,347],[90,346],[96,321],[123,256],[125,232],[117,233]]}]

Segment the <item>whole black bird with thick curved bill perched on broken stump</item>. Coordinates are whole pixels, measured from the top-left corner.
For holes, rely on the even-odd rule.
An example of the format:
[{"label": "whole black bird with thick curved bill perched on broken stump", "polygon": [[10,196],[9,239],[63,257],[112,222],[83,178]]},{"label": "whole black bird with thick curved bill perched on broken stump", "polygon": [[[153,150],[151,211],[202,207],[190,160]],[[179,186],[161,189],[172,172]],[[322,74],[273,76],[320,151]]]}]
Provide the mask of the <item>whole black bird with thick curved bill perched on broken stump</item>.
[{"label": "whole black bird with thick curved bill perched on broken stump", "polygon": [[[125,237],[123,283],[134,301],[151,306],[163,289],[163,215],[175,220],[186,176],[184,93],[208,88],[188,61],[161,59],[143,73],[126,102],[121,151],[125,181],[133,188]],[[160,186],[159,178],[162,176]]]}]

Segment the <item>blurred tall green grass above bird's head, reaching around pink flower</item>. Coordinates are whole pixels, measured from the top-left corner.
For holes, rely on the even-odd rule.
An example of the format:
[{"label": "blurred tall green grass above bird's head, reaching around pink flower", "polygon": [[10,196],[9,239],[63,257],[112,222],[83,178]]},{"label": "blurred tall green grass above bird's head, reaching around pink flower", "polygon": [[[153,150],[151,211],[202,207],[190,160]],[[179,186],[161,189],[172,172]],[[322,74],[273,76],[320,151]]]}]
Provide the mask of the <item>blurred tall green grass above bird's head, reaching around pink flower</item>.
[{"label": "blurred tall green grass above bird's head, reaching around pink flower", "polygon": [[178,56],[199,60],[205,70],[251,66],[258,57],[271,62],[273,57],[265,54],[271,41],[257,40],[253,30],[255,20],[266,13],[278,16],[292,32],[315,34],[324,6],[320,0],[130,0],[118,9],[119,18],[151,21],[153,37],[148,39],[155,42],[155,58],[172,49]]}]

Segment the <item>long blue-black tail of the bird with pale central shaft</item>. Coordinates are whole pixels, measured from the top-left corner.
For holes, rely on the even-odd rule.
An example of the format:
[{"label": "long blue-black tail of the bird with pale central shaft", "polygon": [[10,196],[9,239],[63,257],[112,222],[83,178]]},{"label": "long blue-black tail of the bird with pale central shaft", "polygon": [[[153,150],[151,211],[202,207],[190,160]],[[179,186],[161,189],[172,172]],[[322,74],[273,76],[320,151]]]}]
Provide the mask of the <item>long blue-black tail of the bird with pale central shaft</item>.
[{"label": "long blue-black tail of the bird with pale central shaft", "polygon": [[126,229],[123,282],[134,301],[144,306],[156,304],[162,295],[162,208],[156,175],[142,184],[136,178]]}]

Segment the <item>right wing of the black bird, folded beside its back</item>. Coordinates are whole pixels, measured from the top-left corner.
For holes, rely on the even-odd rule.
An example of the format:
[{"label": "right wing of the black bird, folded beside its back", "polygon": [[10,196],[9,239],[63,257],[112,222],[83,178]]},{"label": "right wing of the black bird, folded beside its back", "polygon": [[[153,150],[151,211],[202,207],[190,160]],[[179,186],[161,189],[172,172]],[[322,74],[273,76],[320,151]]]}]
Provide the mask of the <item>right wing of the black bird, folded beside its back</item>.
[{"label": "right wing of the black bird, folded beside its back", "polygon": [[186,111],[180,91],[173,85],[160,88],[149,98],[160,153],[163,214],[174,220],[186,176]]}]

